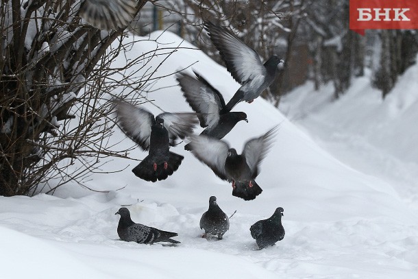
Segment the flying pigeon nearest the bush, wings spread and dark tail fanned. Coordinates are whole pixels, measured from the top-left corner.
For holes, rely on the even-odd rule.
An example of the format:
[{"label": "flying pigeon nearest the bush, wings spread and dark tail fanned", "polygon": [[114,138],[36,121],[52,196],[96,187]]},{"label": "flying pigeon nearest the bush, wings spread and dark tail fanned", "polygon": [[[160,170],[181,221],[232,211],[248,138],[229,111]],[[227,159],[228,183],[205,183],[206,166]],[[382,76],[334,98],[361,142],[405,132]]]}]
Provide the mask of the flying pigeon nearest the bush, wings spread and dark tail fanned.
[{"label": "flying pigeon nearest the bush, wings spread and dark tail fanned", "polygon": [[148,156],[132,172],[143,180],[164,180],[178,169],[183,156],[169,151],[170,140],[184,138],[193,132],[199,120],[195,113],[153,114],[132,104],[116,101],[117,120],[121,130]]}]

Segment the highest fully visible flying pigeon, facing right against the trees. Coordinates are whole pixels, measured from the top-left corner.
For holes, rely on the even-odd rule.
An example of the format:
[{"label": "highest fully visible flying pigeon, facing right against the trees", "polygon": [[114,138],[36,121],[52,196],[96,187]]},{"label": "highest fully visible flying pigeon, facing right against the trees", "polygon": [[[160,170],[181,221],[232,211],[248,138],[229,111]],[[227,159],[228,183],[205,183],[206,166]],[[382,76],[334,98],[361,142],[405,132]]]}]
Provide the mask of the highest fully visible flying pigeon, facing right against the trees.
[{"label": "highest fully visible flying pigeon, facing right against the trees", "polygon": [[264,64],[258,53],[245,45],[225,27],[204,22],[205,29],[213,45],[218,49],[226,69],[234,80],[241,84],[235,95],[226,104],[226,111],[230,111],[240,101],[251,103],[262,91],[270,86],[282,67],[283,60],[278,56],[271,56]]}]

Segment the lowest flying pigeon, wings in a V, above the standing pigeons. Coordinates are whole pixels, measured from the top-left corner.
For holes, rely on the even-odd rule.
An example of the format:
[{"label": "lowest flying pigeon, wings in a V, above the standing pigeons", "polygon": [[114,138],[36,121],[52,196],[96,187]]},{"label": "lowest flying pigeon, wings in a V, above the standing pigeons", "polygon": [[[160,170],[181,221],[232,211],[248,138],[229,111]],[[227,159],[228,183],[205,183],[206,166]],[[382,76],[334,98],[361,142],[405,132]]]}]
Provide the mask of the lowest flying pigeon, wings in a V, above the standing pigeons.
[{"label": "lowest flying pigeon, wings in a V, above the standing pigeons", "polygon": [[277,128],[247,141],[241,155],[225,141],[204,135],[189,136],[191,152],[219,178],[232,182],[232,195],[255,199],[262,192],[254,180],[259,172],[258,165],[267,155]]}]

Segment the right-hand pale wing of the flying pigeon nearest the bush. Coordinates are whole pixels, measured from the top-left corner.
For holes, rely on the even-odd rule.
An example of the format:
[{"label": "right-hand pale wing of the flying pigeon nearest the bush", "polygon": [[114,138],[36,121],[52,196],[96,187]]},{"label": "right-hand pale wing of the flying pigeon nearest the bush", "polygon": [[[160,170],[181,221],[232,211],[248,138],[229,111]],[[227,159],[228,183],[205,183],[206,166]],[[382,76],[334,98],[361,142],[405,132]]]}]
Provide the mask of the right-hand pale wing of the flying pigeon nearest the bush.
[{"label": "right-hand pale wing of the flying pigeon nearest the bush", "polygon": [[193,133],[193,129],[199,123],[197,115],[193,112],[164,112],[157,117],[164,119],[164,127],[169,131],[171,139],[185,138]]}]

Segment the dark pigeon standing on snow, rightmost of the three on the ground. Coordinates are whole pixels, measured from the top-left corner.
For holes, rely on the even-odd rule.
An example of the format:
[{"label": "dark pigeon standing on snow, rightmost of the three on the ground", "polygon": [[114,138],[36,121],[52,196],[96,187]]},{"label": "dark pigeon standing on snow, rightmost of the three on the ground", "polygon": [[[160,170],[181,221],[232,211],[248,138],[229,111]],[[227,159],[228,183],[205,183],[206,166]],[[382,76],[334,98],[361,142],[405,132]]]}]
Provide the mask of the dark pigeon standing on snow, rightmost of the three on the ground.
[{"label": "dark pigeon standing on snow, rightmost of the three on the ground", "polygon": [[254,223],[249,231],[260,249],[274,245],[284,238],[284,228],[282,226],[283,208],[275,210],[269,219],[260,220]]}]

